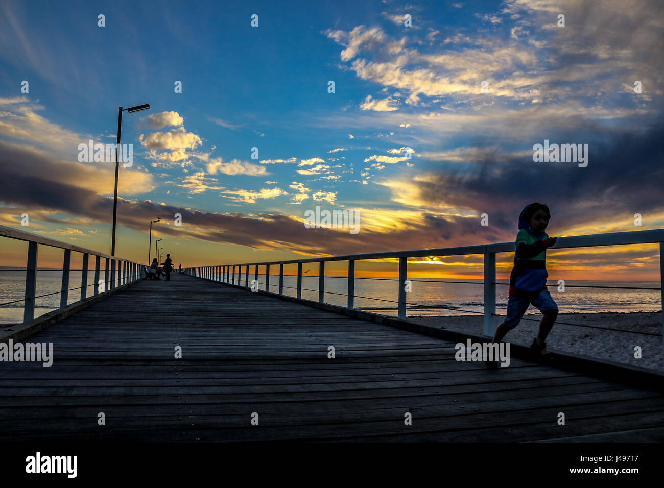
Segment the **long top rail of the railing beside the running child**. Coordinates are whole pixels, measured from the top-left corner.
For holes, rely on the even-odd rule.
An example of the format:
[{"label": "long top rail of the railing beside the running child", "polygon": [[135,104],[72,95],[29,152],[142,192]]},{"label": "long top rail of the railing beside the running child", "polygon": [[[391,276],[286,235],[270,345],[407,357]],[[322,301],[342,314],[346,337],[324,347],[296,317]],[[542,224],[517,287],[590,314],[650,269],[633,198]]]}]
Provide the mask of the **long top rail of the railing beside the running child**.
[{"label": "long top rail of the railing beside the running child", "polygon": [[[664,242],[664,229],[633,230],[630,232],[611,232],[609,234],[588,234],[585,236],[559,237],[550,250],[563,248],[583,248],[590,246],[622,246],[626,244],[656,244]],[[373,260],[389,258],[424,258],[426,256],[459,256],[463,254],[484,254],[485,252],[513,252],[514,242],[497,244],[479,244],[454,248],[416,249],[410,251],[370,252],[365,254],[347,254],[345,256],[327,256],[325,258],[305,258],[288,261],[266,261],[258,263],[221,264],[214,266],[266,266],[267,264],[317,263],[321,261]]]}]

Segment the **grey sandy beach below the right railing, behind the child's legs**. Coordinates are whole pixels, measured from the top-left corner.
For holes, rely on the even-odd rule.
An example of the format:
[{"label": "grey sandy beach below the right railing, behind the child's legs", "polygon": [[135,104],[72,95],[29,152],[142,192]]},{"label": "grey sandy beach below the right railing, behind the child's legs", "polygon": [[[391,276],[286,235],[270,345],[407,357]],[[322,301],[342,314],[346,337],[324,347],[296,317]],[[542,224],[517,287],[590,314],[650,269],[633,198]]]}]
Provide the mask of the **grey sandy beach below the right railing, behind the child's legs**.
[{"label": "grey sandy beach below the right railing, behind the child's legs", "polygon": [[[530,345],[539,329],[541,315],[525,315],[510,331],[505,341]],[[503,317],[497,317],[497,323]],[[537,319],[526,320],[526,319]],[[483,316],[408,317],[408,320],[451,331],[483,335]],[[546,339],[552,351],[580,354],[600,360],[615,361],[643,368],[664,369],[662,360],[661,312],[560,313]],[[578,324],[588,327],[578,327]],[[590,329],[610,327],[620,331]],[[655,335],[643,335],[647,332]],[[641,359],[635,359],[634,347],[641,347]]]}]

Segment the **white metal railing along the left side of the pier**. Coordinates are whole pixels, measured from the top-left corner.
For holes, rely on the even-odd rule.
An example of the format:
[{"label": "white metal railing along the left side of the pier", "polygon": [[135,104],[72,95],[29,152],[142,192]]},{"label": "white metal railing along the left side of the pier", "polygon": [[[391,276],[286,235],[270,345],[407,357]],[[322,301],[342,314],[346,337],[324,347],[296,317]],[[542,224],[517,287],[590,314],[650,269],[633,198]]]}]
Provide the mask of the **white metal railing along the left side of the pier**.
[{"label": "white metal railing along the left side of the pier", "polygon": [[[83,254],[83,263],[82,263],[82,276],[81,276],[81,285],[80,285],[80,299],[84,300],[87,296],[88,289],[88,262],[90,256],[94,256],[94,295],[100,295],[103,293],[108,293],[112,289],[124,284],[135,282],[143,278],[143,266],[140,263],[135,261],[126,260],[122,258],[117,258],[116,256],[109,256],[103,252],[97,252],[86,248],[81,248],[79,246],[74,246],[66,242],[60,242],[58,240],[49,239],[46,237],[38,236],[37,234],[31,234],[30,232],[25,232],[23,230],[15,229],[13,227],[7,227],[0,225],[0,237],[23,240],[28,243],[28,256],[27,256],[27,265],[25,272],[25,303],[23,303],[23,321],[27,322],[35,318],[35,290],[37,286],[37,256],[39,254],[39,246],[51,246],[54,248],[60,248],[64,250],[64,259],[62,261],[62,286],[60,291],[54,293],[46,293],[47,295],[53,295],[55,293],[60,293],[60,309],[67,307],[67,301],[69,298],[69,291],[72,289],[69,288],[69,275],[70,275],[70,264],[72,251],[80,252]],[[99,282],[100,282],[100,264],[101,260],[104,258],[106,260],[106,266],[104,269],[104,291],[99,291]],[[117,269],[116,269],[117,267]],[[21,270],[17,270],[21,271]],[[76,288],[73,288],[76,289]],[[15,300],[21,301],[21,300]],[[10,302],[13,303],[13,302]],[[2,304],[0,304],[1,306]]]}]

